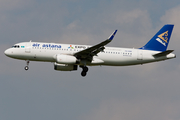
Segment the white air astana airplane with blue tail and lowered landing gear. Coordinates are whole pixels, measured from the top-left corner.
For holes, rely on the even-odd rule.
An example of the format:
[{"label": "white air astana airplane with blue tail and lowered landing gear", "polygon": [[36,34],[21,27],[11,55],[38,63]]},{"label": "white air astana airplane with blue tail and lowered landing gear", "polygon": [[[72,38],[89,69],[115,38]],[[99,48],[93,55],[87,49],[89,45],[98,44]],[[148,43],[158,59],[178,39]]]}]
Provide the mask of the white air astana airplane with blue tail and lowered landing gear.
[{"label": "white air astana airplane with blue tail and lowered landing gear", "polygon": [[108,39],[96,44],[58,44],[44,42],[21,42],[5,50],[8,57],[25,60],[25,70],[30,61],[54,63],[54,70],[75,71],[82,68],[81,75],[86,76],[87,66],[129,66],[158,62],[175,58],[174,50],[167,50],[174,25],[164,25],[147,44],[141,48],[106,47],[117,30]]}]

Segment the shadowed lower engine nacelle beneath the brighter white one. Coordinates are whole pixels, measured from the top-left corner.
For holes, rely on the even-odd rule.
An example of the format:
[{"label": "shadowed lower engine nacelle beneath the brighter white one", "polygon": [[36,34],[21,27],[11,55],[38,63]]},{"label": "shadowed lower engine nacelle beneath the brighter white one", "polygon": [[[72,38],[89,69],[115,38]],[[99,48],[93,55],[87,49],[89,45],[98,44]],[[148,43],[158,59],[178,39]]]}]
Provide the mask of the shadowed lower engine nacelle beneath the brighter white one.
[{"label": "shadowed lower engine nacelle beneath the brighter white one", "polygon": [[54,70],[73,71],[77,70],[77,65],[54,63]]}]

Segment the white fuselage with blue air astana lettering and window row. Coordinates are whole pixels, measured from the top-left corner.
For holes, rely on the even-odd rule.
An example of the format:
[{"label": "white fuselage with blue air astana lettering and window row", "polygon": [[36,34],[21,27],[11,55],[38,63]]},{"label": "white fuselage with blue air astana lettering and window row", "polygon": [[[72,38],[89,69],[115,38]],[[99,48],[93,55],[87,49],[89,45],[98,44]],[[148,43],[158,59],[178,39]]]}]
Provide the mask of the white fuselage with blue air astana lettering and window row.
[{"label": "white fuselage with blue air astana lettering and window row", "polygon": [[[23,42],[16,45],[19,47],[9,48],[5,51],[5,54],[15,59],[43,62],[56,62],[55,56],[58,54],[73,55],[91,47],[87,45],[42,42]],[[157,53],[160,53],[160,51],[105,47],[104,51],[94,56],[92,62],[87,62],[87,65],[126,66],[175,58],[175,54],[172,53],[158,58],[153,57]]]}]

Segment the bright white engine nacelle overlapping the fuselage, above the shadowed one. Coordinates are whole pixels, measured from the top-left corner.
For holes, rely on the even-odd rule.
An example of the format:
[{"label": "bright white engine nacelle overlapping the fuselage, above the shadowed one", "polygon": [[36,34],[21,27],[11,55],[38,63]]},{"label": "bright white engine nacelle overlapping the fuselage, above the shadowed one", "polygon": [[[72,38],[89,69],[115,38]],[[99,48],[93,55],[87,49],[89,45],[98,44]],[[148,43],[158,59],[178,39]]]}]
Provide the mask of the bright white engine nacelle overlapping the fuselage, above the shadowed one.
[{"label": "bright white engine nacelle overlapping the fuselage, above the shadowed one", "polygon": [[63,55],[63,54],[58,54],[56,55],[56,62],[60,64],[75,64],[77,59],[74,56],[71,55]]}]

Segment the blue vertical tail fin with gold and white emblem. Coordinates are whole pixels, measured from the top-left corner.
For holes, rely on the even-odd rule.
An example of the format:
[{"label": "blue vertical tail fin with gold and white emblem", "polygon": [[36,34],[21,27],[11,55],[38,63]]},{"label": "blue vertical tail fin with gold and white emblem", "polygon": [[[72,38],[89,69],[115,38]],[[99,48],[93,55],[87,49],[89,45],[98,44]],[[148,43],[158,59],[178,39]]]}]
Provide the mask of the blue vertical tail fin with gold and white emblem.
[{"label": "blue vertical tail fin with gold and white emblem", "polygon": [[142,48],[143,50],[166,51],[174,25],[164,25]]}]

